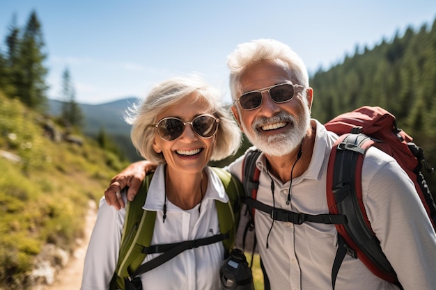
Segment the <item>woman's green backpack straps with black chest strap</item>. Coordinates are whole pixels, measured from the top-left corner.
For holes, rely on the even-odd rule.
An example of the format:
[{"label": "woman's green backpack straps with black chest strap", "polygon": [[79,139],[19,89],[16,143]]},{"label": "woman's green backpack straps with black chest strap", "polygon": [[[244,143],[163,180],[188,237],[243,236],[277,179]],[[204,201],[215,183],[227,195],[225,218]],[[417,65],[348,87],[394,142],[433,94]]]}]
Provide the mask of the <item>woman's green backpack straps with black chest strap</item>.
[{"label": "woman's green backpack straps with black chest strap", "polygon": [[[196,248],[199,245],[207,245],[217,241],[222,241],[224,249],[226,250],[226,255],[228,255],[228,252],[230,252],[235,245],[236,229],[238,229],[240,217],[240,197],[244,195],[244,191],[238,179],[233,177],[231,173],[221,168],[213,167],[212,169],[217,173],[219,179],[221,179],[229,198],[228,203],[215,200],[221,234],[169,245],[150,245],[155,226],[156,212],[142,209],[153,173],[146,175],[134,201],[127,202],[123,236],[120,243],[120,253],[118,256],[116,271],[111,280],[109,289],[127,289],[125,284],[132,281],[135,276],[139,275],[137,274],[139,268],[144,268],[144,266],[148,264],[148,270],[150,270],[151,268],[163,264],[172,257],[175,257],[183,250]],[[150,252],[147,251],[150,248],[153,248],[155,250],[154,252],[162,252],[162,248],[166,250],[164,250],[164,253],[156,259],[141,265],[147,253]],[[158,248],[159,250],[157,250]],[[166,256],[166,259],[162,256]],[[164,259],[158,261],[159,258]],[[157,263],[155,263],[155,261],[157,261]]]}]

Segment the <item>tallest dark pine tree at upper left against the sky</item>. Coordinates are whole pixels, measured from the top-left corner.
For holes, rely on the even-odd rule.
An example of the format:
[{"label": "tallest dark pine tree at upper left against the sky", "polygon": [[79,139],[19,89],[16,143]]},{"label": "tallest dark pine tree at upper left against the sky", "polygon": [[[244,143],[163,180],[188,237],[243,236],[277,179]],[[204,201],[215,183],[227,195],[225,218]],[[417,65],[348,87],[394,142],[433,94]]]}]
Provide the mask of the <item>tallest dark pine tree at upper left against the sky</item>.
[{"label": "tallest dark pine tree at upper left against the sky", "polygon": [[[46,56],[42,52],[44,45],[41,24],[33,10],[20,42],[20,80],[17,83],[17,95],[24,104],[38,111],[44,111],[47,103],[47,68],[43,65]],[[10,51],[15,53],[15,47],[13,48]]]}]

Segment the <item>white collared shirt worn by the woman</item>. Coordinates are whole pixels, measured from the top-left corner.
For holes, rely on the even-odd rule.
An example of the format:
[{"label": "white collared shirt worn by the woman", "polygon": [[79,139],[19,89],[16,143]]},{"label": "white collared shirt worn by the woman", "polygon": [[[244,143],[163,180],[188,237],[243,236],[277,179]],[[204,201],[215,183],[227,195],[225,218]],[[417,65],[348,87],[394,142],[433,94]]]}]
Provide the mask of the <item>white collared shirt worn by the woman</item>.
[{"label": "white collared shirt worn by the woman", "polygon": [[[228,202],[219,177],[207,168],[208,188],[201,202],[190,210],[182,210],[166,200],[164,207],[164,166],[158,166],[150,182],[143,209],[156,211],[152,245],[176,243],[219,234],[215,200]],[[125,197],[123,197],[125,198]],[[125,209],[117,211],[102,198],[98,218],[86,252],[82,290],[109,289],[116,268]],[[161,254],[147,255],[144,262]],[[219,267],[224,260],[221,242],[186,250],[170,261],[141,275],[143,289],[219,289]]]}]

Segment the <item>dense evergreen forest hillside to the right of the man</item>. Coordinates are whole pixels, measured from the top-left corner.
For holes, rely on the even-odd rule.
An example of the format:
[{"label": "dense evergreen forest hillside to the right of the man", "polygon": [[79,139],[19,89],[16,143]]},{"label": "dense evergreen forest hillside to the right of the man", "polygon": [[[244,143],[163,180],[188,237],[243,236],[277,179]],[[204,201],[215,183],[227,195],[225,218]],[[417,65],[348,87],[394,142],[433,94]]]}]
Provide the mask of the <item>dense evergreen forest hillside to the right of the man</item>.
[{"label": "dense evergreen forest hillside to the right of the man", "polygon": [[[310,85],[313,118],[327,122],[359,106],[381,106],[436,167],[436,19],[373,49],[357,47],[355,55],[311,76]],[[424,175],[435,195],[435,174]]]}]

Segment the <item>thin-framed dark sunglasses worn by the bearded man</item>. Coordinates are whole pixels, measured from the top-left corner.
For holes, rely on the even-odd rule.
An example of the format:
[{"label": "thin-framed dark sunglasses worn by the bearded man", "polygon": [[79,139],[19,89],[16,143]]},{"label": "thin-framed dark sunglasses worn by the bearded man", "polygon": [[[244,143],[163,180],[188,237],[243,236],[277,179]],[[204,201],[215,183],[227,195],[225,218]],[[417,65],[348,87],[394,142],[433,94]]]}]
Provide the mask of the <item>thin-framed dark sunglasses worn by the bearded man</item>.
[{"label": "thin-framed dark sunglasses worn by the bearded man", "polygon": [[268,92],[271,99],[276,103],[288,102],[294,97],[295,88],[304,88],[304,86],[293,85],[291,83],[280,83],[267,88],[261,88],[260,90],[246,92],[239,99],[236,99],[233,104],[239,101],[241,108],[244,110],[254,110],[262,104],[263,92]]}]

